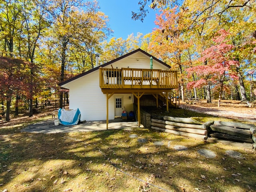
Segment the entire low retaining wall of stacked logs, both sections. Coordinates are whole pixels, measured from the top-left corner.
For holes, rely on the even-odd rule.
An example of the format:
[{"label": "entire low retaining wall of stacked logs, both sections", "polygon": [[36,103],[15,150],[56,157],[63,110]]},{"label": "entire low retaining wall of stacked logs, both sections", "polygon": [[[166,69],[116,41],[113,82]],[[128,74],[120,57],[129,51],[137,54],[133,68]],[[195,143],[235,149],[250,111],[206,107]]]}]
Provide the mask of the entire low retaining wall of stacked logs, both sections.
[{"label": "entire low retaining wall of stacked logs, both sections", "polygon": [[223,121],[208,121],[202,124],[193,118],[152,115],[150,127],[208,142],[222,142],[231,146],[256,148],[256,126],[254,124]]}]

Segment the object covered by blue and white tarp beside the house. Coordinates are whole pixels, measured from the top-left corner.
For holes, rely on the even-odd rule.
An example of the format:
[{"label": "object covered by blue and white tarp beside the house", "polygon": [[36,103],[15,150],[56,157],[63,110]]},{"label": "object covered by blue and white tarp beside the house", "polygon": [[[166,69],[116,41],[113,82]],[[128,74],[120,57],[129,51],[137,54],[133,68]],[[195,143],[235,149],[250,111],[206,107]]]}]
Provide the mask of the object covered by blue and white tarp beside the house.
[{"label": "object covered by blue and white tarp beside the house", "polygon": [[76,125],[80,120],[81,112],[77,109],[65,110],[60,108],[58,110],[58,118],[62,125]]}]

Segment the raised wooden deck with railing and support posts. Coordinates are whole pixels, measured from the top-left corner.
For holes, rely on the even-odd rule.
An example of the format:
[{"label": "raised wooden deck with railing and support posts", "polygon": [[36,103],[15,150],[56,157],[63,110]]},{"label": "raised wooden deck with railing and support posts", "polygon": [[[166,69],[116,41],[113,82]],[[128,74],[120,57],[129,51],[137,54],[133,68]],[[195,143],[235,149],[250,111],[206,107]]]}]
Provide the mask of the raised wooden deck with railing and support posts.
[{"label": "raised wooden deck with railing and support posts", "polygon": [[[117,93],[132,93],[137,98],[138,127],[140,127],[140,98],[144,94],[158,95],[166,99],[166,110],[169,110],[168,93],[178,88],[178,76],[176,71],[138,68],[99,68],[100,88],[106,94],[107,105],[107,129],[108,129],[108,100]],[[177,102],[176,102],[177,106]]]}]

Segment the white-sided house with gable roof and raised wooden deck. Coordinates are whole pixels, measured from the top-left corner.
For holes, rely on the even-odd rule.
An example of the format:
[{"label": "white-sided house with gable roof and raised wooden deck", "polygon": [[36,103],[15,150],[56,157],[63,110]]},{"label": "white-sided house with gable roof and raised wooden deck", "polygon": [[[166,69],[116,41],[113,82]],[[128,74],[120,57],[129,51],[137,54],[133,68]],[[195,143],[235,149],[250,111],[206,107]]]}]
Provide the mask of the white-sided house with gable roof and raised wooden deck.
[{"label": "white-sided house with gable roof and raised wooden deck", "polygon": [[178,87],[178,81],[169,65],[137,49],[60,86],[69,89],[69,108],[79,108],[81,120],[107,120],[108,126],[108,119],[121,116],[124,110],[134,110],[134,99],[140,114],[140,97],[144,94],[153,94],[156,99],[160,94],[168,99],[167,93]]}]

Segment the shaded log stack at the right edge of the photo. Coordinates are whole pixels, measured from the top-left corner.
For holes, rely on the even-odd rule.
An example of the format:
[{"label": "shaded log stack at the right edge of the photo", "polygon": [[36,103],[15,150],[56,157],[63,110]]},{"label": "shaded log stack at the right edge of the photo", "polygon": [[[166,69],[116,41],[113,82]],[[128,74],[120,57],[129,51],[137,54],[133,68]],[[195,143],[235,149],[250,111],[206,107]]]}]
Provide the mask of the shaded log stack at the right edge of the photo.
[{"label": "shaded log stack at the right edge of the photo", "polygon": [[208,142],[222,142],[233,146],[255,148],[256,126],[236,122],[214,121],[210,125]]}]

